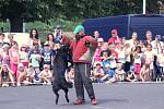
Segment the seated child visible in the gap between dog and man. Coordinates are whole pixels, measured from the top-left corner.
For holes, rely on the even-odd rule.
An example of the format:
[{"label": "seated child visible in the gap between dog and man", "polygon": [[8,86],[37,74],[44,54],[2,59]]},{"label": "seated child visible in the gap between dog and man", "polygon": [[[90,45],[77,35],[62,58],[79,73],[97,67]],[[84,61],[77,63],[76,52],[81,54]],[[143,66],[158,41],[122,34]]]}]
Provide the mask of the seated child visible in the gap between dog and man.
[{"label": "seated child visible in the gap between dog and man", "polygon": [[66,72],[66,80],[67,82],[74,84],[74,68],[70,68],[69,72]]}]

